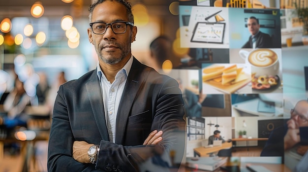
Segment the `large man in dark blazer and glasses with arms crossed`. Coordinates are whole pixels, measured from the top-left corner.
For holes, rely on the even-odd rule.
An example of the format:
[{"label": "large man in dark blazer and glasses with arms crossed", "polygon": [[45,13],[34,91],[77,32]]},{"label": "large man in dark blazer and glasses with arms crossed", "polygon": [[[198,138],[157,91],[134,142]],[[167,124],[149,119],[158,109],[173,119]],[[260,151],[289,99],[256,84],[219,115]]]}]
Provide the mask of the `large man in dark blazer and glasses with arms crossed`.
[{"label": "large man in dark blazer and glasses with arms crossed", "polygon": [[186,127],[177,81],[158,74],[131,54],[137,27],[128,1],[97,0],[89,11],[89,41],[98,64],[95,70],[59,88],[48,171],[179,168],[174,160],[183,158]]}]

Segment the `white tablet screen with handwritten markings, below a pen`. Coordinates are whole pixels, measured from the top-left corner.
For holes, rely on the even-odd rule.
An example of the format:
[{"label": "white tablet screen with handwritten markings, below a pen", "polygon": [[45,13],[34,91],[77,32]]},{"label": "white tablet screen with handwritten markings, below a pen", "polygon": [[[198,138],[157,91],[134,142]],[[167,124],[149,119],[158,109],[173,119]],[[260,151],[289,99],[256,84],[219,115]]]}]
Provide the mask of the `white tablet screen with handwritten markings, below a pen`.
[{"label": "white tablet screen with handwritten markings, below a pen", "polygon": [[223,43],[225,23],[198,22],[190,42]]}]

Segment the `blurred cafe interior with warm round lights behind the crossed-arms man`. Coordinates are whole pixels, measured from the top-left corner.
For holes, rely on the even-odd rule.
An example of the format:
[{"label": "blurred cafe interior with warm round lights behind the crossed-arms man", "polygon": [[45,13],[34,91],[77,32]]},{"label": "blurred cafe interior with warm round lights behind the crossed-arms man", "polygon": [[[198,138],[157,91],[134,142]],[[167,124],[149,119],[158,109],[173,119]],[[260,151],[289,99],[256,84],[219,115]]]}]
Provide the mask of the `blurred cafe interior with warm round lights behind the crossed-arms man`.
[{"label": "blurred cafe interior with warm round lights behind the crossed-arms man", "polygon": [[[88,8],[93,1],[0,0],[0,172],[47,172],[48,131],[59,85],[79,78],[97,64],[87,34]],[[178,52],[173,62],[180,61],[185,49],[177,44],[179,2],[130,2],[138,27],[132,54],[152,64],[151,41],[167,35]],[[23,87],[18,88],[17,82]],[[11,104],[5,105],[12,92],[20,101],[26,99],[24,104],[12,98]],[[8,110],[12,104],[23,109]],[[19,111],[26,114],[26,123],[2,124],[6,115]]]}]

